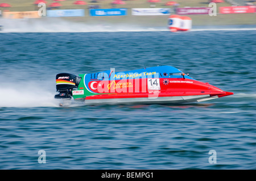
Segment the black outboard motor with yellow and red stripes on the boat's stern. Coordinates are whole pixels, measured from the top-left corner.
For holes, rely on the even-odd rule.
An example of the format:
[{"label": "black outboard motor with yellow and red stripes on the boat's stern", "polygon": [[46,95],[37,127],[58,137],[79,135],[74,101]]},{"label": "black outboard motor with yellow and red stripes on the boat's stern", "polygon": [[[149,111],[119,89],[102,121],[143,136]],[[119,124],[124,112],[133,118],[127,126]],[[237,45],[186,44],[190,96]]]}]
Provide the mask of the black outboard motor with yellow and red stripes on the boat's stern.
[{"label": "black outboard motor with yellow and red stripes on the boat's stern", "polygon": [[60,73],[56,75],[56,91],[55,99],[71,99],[72,90],[79,86],[81,77],[69,74]]}]

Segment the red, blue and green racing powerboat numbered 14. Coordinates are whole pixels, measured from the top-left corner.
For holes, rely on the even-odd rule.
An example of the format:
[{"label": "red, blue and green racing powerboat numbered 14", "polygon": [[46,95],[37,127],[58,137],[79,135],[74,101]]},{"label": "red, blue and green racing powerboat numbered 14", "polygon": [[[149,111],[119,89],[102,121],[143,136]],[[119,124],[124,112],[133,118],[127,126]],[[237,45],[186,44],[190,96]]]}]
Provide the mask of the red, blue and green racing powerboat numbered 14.
[{"label": "red, blue and green racing powerboat numbered 14", "polygon": [[85,104],[169,104],[202,102],[232,95],[172,66],[133,71],[56,75],[56,99]]}]

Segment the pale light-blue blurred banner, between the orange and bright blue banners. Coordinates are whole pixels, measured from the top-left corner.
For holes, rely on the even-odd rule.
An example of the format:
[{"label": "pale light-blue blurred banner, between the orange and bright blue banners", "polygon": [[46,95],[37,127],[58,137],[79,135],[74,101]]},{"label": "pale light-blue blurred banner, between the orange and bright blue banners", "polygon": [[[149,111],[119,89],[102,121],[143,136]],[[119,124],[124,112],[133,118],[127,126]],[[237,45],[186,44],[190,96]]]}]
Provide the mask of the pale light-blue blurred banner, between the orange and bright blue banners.
[{"label": "pale light-blue blurred banner, between the orange and bright blue banners", "polygon": [[47,10],[48,17],[85,16],[85,10]]}]

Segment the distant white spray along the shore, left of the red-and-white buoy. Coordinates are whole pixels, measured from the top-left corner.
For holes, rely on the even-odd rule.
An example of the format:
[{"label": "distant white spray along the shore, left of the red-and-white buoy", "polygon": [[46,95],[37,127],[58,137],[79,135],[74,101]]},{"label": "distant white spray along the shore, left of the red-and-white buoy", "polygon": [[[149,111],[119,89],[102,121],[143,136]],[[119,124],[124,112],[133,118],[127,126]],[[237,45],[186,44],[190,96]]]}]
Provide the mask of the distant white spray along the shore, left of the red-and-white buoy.
[{"label": "distant white spray along the shore, left of the red-and-white buoy", "polygon": [[3,33],[11,32],[140,32],[168,31],[164,28],[141,27],[131,24],[77,23],[63,19],[0,19]]}]

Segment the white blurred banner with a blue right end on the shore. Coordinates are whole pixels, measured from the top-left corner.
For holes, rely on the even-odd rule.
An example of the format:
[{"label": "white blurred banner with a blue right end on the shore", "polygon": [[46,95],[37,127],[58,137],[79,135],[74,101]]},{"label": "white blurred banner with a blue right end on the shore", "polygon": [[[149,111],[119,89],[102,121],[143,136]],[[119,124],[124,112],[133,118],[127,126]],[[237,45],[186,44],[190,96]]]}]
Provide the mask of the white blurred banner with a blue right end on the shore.
[{"label": "white blurred banner with a blue right end on the shore", "polygon": [[170,15],[170,8],[133,8],[131,9],[132,15]]}]

